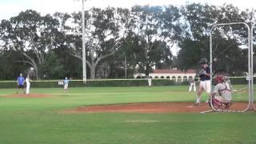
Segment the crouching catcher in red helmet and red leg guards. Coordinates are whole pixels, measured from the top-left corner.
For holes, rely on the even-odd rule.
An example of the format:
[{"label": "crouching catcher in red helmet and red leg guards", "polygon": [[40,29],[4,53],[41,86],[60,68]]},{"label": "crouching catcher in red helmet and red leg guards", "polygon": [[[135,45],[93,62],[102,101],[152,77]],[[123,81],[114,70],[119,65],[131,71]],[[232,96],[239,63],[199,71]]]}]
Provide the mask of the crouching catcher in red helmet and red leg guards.
[{"label": "crouching catcher in red helmet and red leg guards", "polygon": [[218,75],[215,80],[216,86],[210,94],[213,105],[228,109],[231,104],[231,86],[229,82],[226,82],[226,77],[223,75]]}]

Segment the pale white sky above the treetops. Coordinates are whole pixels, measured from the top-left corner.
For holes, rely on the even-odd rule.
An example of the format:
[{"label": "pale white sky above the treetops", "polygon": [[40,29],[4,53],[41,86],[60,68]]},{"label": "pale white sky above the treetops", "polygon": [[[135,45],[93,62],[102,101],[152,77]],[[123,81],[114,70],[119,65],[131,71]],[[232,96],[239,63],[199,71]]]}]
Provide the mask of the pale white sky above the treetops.
[{"label": "pale white sky above the treetops", "polygon": [[[186,2],[201,2],[213,5],[232,3],[240,9],[256,7],[255,0],[87,0],[86,8],[96,7],[130,7],[138,5],[183,5]],[[0,19],[10,18],[22,10],[33,9],[42,14],[53,14],[56,11],[74,12],[81,10],[79,0],[0,0]]]}]

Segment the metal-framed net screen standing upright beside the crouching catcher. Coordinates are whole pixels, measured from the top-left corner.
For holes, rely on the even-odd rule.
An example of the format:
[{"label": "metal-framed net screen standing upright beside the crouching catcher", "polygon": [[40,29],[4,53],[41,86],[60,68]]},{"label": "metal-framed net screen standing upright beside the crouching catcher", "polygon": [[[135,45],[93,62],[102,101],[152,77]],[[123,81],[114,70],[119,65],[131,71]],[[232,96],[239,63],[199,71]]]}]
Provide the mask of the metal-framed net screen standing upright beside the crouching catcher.
[{"label": "metal-framed net screen standing upright beside the crouching catcher", "polygon": [[217,111],[246,111],[249,106],[250,28],[246,23],[227,23],[213,26],[210,36],[210,67],[212,90],[218,74],[226,76],[231,86],[229,109],[212,106]]}]

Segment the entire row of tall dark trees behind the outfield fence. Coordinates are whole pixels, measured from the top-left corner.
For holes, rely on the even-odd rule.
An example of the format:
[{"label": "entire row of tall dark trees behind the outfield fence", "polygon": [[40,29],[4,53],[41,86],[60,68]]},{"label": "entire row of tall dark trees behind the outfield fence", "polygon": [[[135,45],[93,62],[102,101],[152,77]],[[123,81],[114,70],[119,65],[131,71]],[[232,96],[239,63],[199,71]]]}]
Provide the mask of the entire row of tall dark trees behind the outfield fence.
[{"label": "entire row of tall dark trees behind the outfield fence", "polygon": [[[196,68],[198,59],[209,57],[211,26],[222,22],[252,23],[254,12],[232,5],[197,3],[181,7],[92,8],[85,12],[87,77],[132,78],[135,73],[148,75],[154,66]],[[35,10],[2,20],[0,79],[26,74],[31,66],[38,79],[82,78],[81,22],[81,13],[42,15]],[[224,47],[232,47],[233,57],[245,52],[241,48],[246,43],[244,29],[235,26],[214,33],[216,51],[226,57],[230,52],[220,52]],[[234,36],[228,30],[240,32]],[[174,57],[172,49],[177,46],[180,50]],[[245,62],[240,59],[235,62],[238,66],[225,69],[234,73]]]}]

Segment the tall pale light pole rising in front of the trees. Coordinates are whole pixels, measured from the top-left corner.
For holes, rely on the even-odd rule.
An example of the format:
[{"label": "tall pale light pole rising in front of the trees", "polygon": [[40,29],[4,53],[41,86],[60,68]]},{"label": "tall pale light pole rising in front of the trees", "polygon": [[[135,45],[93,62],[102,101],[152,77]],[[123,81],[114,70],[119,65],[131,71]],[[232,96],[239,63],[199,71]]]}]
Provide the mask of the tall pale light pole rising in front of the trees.
[{"label": "tall pale light pole rising in front of the trees", "polygon": [[84,83],[86,83],[85,1],[86,0],[82,0],[82,80]]}]

